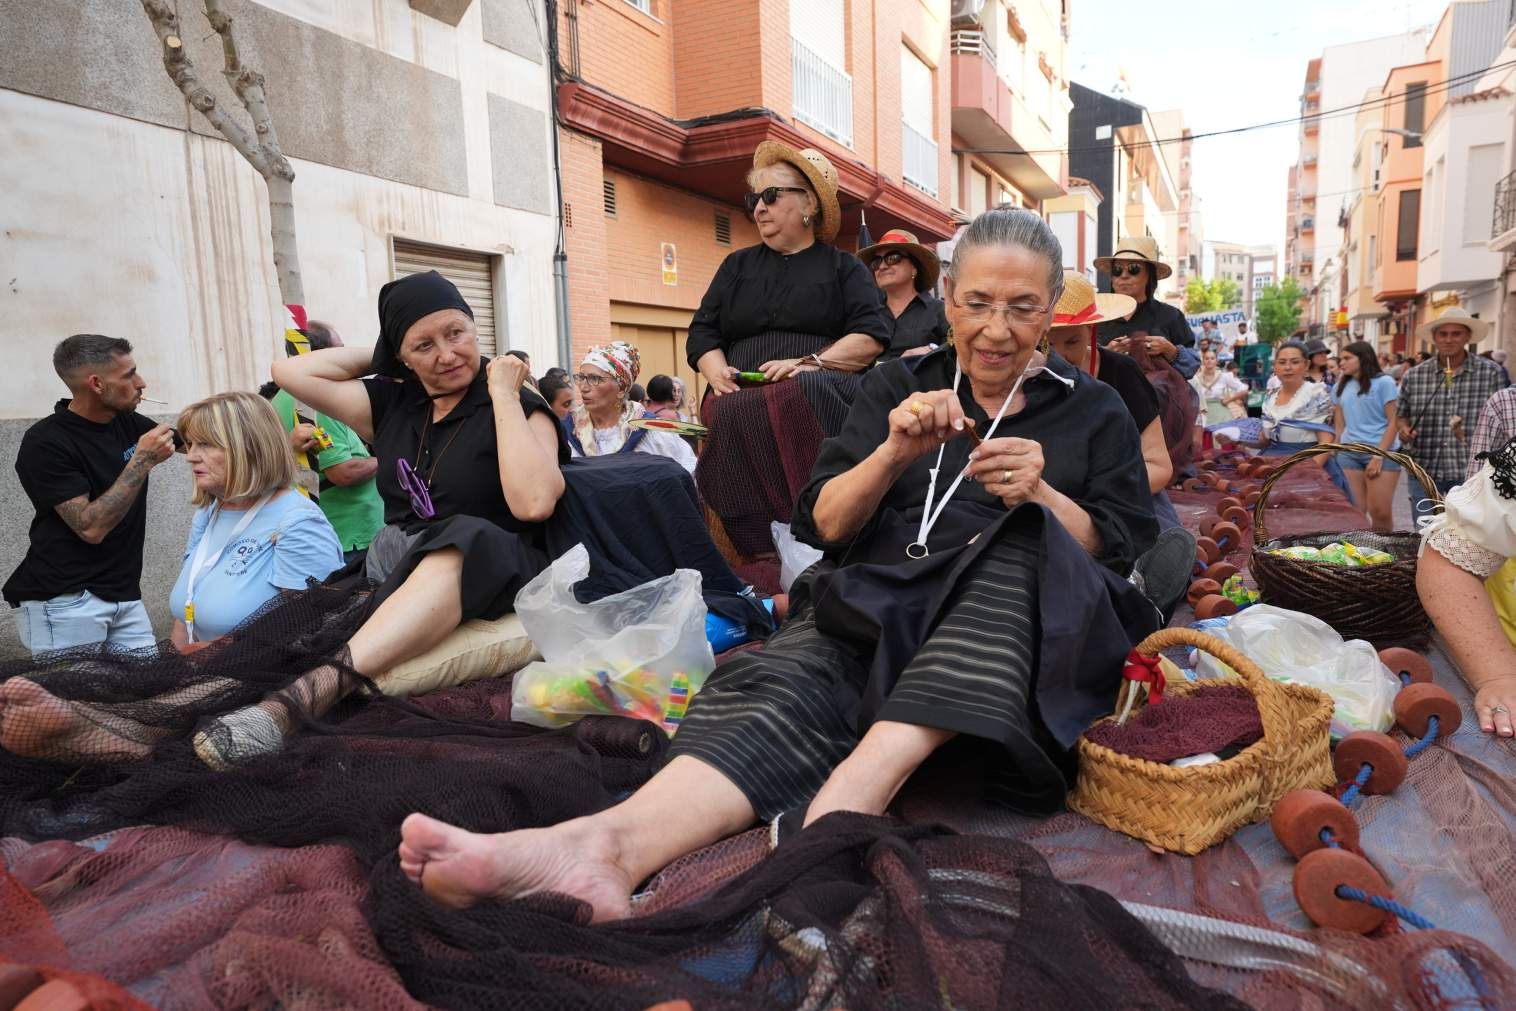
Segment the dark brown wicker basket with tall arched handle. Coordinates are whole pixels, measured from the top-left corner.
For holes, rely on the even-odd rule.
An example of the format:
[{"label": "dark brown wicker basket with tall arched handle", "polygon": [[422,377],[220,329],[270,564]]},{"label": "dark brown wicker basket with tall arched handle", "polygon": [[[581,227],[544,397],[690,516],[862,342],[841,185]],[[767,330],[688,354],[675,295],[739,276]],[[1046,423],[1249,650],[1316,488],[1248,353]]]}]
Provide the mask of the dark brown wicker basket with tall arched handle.
[{"label": "dark brown wicker basket with tall arched handle", "polygon": [[[1420,649],[1431,634],[1431,621],[1416,596],[1416,552],[1420,547],[1417,534],[1381,534],[1378,531],[1336,531],[1320,534],[1296,534],[1287,538],[1269,540],[1267,503],[1269,491],[1280,476],[1302,461],[1325,453],[1369,453],[1399,464],[1420,482],[1434,502],[1442,502],[1437,485],[1408,456],[1389,453],[1363,443],[1325,443],[1295,453],[1269,474],[1258,494],[1254,509],[1254,547],[1248,568],[1258,584],[1263,603],[1272,603],[1290,611],[1313,614],[1333,626],[1348,640],[1369,640],[1375,649],[1405,646]],[[1278,547],[1305,544],[1323,547],[1333,541],[1349,540],[1358,547],[1373,547],[1395,556],[1383,565],[1334,565],[1331,562],[1308,562],[1283,555],[1270,555]]]}]

